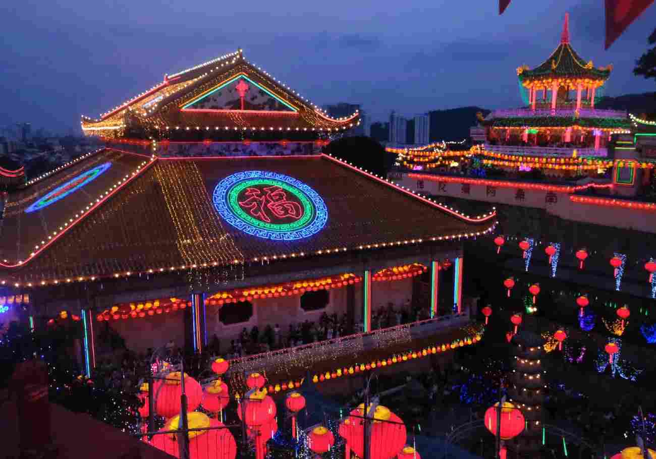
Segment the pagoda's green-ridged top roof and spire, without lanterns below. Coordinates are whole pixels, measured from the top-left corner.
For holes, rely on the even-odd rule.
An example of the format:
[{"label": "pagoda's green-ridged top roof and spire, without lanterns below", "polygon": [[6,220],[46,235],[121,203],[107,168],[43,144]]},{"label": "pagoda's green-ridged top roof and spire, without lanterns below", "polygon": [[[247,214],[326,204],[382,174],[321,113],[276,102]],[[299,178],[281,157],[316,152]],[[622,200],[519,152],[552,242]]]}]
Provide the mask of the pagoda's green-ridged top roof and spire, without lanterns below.
[{"label": "pagoda's green-ridged top roof and spire, without lanterns below", "polygon": [[520,67],[517,70],[522,83],[541,79],[584,78],[605,81],[611,73],[612,66],[594,68],[592,61],[586,62],[569,44],[569,14],[565,14],[560,45],[542,64],[529,69]]}]

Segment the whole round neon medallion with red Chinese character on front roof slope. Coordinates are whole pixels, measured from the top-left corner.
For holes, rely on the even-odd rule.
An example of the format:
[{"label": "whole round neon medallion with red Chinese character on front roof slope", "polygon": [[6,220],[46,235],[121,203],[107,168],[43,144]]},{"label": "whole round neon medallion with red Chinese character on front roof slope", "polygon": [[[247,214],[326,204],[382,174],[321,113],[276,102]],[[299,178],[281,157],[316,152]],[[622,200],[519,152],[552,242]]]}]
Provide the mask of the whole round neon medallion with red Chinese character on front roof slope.
[{"label": "whole round neon medallion with red Chinese character on front roof slope", "polygon": [[213,201],[232,226],[265,239],[302,239],[318,233],[328,220],[319,193],[295,178],[264,170],[227,176],[216,185]]}]

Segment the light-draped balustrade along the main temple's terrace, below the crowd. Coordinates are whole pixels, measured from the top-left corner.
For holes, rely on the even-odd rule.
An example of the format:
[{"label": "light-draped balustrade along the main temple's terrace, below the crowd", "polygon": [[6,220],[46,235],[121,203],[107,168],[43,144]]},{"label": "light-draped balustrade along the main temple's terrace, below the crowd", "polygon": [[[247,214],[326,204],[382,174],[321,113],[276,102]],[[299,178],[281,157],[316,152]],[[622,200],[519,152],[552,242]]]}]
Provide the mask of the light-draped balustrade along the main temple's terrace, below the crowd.
[{"label": "light-draped balustrade along the main temple's terrace, below the crowd", "polygon": [[[380,343],[384,342],[384,336],[393,332],[397,333],[405,330],[407,332],[407,339],[410,341],[421,336],[426,336],[427,334],[436,332],[440,329],[446,329],[455,325],[464,325],[468,320],[469,314],[467,312],[453,315],[441,315],[434,319],[396,325],[395,327],[388,327],[386,329],[351,334],[343,336],[342,338],[303,344],[294,348],[277,349],[275,351],[238,357],[230,360],[230,366],[234,367],[235,365],[239,365],[239,367],[245,370],[259,370],[262,369],[264,365],[271,367],[281,363],[283,359],[289,359],[290,354],[292,354],[295,359],[300,359],[305,354],[314,353],[318,348],[321,348],[321,355],[326,359],[329,359],[339,357],[344,353],[344,349],[349,349],[349,351],[353,351],[354,349],[365,351],[380,347]],[[347,344],[348,346],[346,346]]]}]

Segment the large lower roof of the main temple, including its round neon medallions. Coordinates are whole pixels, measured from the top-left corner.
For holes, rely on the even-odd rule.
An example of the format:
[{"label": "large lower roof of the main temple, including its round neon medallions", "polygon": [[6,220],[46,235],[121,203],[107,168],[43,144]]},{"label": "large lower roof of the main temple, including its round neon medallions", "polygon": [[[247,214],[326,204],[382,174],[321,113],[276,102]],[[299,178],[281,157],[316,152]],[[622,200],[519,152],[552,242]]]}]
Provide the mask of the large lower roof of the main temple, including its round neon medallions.
[{"label": "large lower roof of the main temple, including its round neon medallions", "polygon": [[0,285],[411,247],[483,234],[495,216],[466,216],[328,155],[106,149],[7,195]]}]

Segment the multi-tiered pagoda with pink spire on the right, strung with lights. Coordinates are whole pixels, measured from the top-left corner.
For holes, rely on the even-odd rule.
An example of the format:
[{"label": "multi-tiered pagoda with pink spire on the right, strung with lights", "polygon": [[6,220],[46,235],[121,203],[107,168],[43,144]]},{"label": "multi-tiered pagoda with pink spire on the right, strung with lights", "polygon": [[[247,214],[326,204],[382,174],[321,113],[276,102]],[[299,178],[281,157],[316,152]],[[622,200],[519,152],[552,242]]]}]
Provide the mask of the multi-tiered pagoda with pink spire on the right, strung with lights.
[{"label": "multi-tiered pagoda with pink spire on the right, strung with lights", "polygon": [[610,135],[629,128],[625,111],[594,106],[612,70],[612,65],[595,67],[573,49],[565,14],[556,50],[535,68],[517,69],[527,106],[493,111],[482,120],[487,128],[485,151],[496,159],[491,159],[493,165],[503,166],[499,159],[512,162],[520,155],[607,157]]}]

